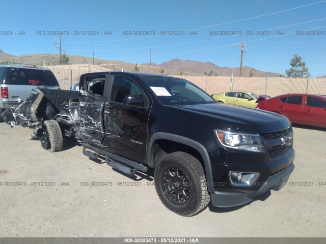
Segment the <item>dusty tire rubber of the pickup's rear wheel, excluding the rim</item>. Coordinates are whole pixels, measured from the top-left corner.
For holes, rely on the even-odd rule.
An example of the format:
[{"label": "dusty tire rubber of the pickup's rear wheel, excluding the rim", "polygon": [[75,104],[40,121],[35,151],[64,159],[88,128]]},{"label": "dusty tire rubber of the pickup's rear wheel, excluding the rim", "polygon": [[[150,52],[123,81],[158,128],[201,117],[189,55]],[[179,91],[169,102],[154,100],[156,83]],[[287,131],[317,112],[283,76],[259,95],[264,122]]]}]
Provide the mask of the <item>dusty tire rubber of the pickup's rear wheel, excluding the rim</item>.
[{"label": "dusty tire rubber of the pickup's rear wheel, excluding the rim", "polygon": [[58,122],[56,120],[46,120],[44,121],[44,127],[50,141],[49,150],[51,152],[62,151],[63,137]]}]

